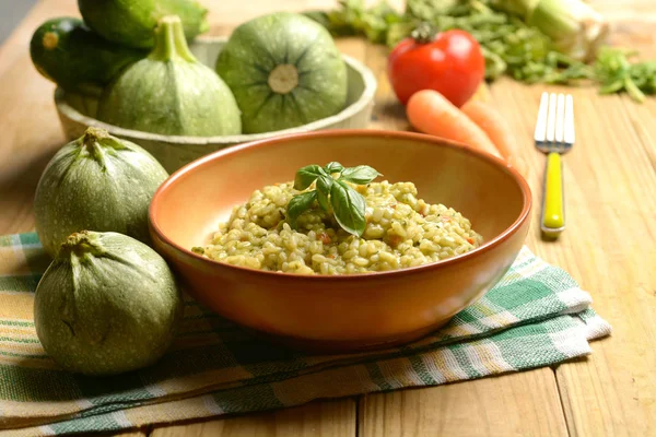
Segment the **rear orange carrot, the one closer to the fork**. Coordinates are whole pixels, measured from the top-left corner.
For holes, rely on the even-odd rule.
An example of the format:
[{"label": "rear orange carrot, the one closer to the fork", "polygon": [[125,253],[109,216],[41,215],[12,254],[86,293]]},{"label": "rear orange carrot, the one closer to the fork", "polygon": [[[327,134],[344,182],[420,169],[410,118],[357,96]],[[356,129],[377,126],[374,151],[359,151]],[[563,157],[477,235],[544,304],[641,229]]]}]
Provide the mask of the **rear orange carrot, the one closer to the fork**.
[{"label": "rear orange carrot, the one closer to the fork", "polygon": [[503,157],[508,160],[511,156],[519,156],[515,135],[496,109],[483,102],[469,101],[460,110],[488,134]]}]

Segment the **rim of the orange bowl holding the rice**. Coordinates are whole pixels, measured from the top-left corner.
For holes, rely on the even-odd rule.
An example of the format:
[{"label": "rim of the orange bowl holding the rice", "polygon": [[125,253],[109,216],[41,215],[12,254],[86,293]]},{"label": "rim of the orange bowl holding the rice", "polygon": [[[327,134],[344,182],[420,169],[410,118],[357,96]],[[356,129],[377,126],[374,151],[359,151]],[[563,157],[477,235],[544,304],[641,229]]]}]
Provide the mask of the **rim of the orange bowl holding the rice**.
[{"label": "rim of the orange bowl holding the rice", "polygon": [[[491,240],[483,243],[483,245],[479,246],[478,248],[476,248],[471,251],[468,251],[468,252],[465,252],[465,253],[461,253],[461,255],[458,255],[458,256],[455,256],[452,258],[447,258],[444,260],[440,260],[440,261],[435,261],[435,262],[431,262],[431,263],[426,263],[426,264],[421,264],[421,265],[415,265],[415,267],[389,270],[389,271],[384,271],[384,272],[365,272],[365,273],[351,273],[351,274],[340,274],[340,275],[273,272],[273,271],[265,271],[265,270],[251,269],[251,268],[233,265],[233,264],[229,264],[229,263],[224,263],[224,262],[214,261],[209,258],[197,255],[197,253],[192,252],[190,249],[187,249],[187,248],[178,245],[177,243],[173,241],[168,236],[166,236],[164,234],[164,232],[162,232],[160,225],[157,224],[157,215],[155,213],[155,210],[156,210],[156,206],[159,205],[159,203],[161,202],[161,198],[163,196],[162,193],[165,192],[171,186],[175,185],[178,180],[181,180],[186,177],[190,177],[190,175],[194,174],[196,168],[201,167],[203,165],[208,165],[209,163],[211,163],[215,160],[220,160],[223,156],[238,154],[238,153],[241,153],[245,150],[249,150],[249,149],[266,147],[271,144],[284,143],[288,141],[297,141],[297,140],[303,140],[303,139],[326,138],[326,137],[327,138],[336,138],[336,137],[337,138],[340,138],[340,137],[395,138],[395,139],[429,142],[429,143],[433,143],[433,144],[438,144],[441,146],[447,146],[450,149],[457,149],[457,150],[464,151],[465,153],[475,155],[483,161],[491,163],[492,165],[496,166],[501,170],[508,173],[513,177],[514,181],[517,184],[517,186],[519,187],[519,190],[522,191],[522,198],[524,201],[522,211],[520,211],[518,217],[515,220],[515,222],[513,222],[513,224],[511,226],[508,226],[506,229],[504,229],[502,233],[496,235]],[[390,276],[390,275],[403,276],[403,275],[413,274],[413,273],[418,273],[418,272],[437,270],[437,269],[442,269],[447,265],[464,262],[464,261],[466,261],[470,258],[473,258],[480,253],[488,252],[488,251],[492,250],[494,247],[504,243],[507,238],[509,238],[513,234],[515,234],[524,225],[524,223],[529,217],[531,206],[532,206],[532,194],[531,194],[530,187],[529,187],[528,182],[526,181],[526,179],[519,174],[519,172],[517,172],[515,168],[513,168],[511,165],[508,165],[505,161],[503,161],[502,158],[496,157],[488,152],[482,152],[482,151],[476,150],[476,149],[473,149],[469,145],[462,144],[462,143],[458,143],[455,141],[443,139],[441,137],[429,135],[429,134],[424,134],[424,133],[406,132],[406,131],[373,130],[373,129],[336,129],[336,130],[330,130],[330,131],[295,133],[295,134],[285,135],[285,137],[277,137],[273,139],[253,141],[249,143],[244,143],[244,144],[235,145],[232,147],[226,147],[226,149],[210,153],[210,154],[202,156],[196,161],[192,161],[191,163],[185,165],[184,167],[181,167],[178,170],[176,170],[175,173],[173,173],[157,188],[157,190],[155,191],[155,193],[152,198],[151,204],[149,206],[148,222],[149,222],[149,227],[151,228],[151,231],[156,234],[157,238],[164,245],[168,246],[173,250],[178,251],[181,256],[190,258],[191,260],[195,260],[197,262],[204,263],[206,265],[208,265],[210,268],[226,269],[226,270],[231,270],[234,272],[239,272],[242,274],[262,275],[263,277],[269,276],[271,280],[274,280],[277,277],[278,279],[284,277],[285,280],[290,280],[290,281],[294,281],[294,280],[306,281],[308,279],[312,279],[313,281],[360,281],[360,280],[368,280],[372,277],[386,277],[386,276]]]}]

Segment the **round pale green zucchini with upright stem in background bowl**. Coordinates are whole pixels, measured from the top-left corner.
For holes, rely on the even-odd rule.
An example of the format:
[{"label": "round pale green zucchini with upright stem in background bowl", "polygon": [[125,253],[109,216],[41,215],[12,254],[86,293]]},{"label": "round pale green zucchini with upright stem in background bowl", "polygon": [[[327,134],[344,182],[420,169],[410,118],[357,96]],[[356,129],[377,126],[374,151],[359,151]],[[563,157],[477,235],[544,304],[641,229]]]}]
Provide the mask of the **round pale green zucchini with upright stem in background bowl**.
[{"label": "round pale green zucchini with upright stem in background bowl", "polygon": [[165,16],[148,58],[127,68],[101,96],[101,121],[166,135],[242,133],[239,108],[227,85],[189,51],[180,20]]}]

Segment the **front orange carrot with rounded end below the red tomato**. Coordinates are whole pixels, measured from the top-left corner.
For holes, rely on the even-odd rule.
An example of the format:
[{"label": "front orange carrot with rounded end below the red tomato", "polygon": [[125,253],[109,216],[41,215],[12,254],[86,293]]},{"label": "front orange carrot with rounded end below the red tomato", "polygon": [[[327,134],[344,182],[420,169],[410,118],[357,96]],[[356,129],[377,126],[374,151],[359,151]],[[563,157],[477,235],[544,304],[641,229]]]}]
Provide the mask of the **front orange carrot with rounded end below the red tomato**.
[{"label": "front orange carrot with rounded end below the red tomato", "polygon": [[485,132],[434,90],[414,93],[406,110],[410,123],[421,132],[461,142],[501,157]]}]

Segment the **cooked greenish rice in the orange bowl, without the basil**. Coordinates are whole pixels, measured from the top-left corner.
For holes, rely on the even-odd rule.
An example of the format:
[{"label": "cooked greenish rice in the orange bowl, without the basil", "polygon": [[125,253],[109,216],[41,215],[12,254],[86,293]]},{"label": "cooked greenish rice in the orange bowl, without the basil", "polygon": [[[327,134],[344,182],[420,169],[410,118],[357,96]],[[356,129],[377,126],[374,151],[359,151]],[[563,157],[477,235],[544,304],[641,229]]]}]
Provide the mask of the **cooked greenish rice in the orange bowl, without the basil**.
[{"label": "cooked greenish rice in the orange bowl, without the basil", "polygon": [[[314,188],[314,187],[312,187]],[[300,274],[352,274],[396,270],[465,253],[482,243],[469,220],[417,197],[412,182],[354,186],[366,200],[362,238],[343,231],[331,213],[314,208],[285,221],[300,193],[292,182],[265,187],[233,209],[204,248],[210,259],[253,269]]]}]

